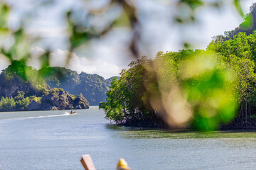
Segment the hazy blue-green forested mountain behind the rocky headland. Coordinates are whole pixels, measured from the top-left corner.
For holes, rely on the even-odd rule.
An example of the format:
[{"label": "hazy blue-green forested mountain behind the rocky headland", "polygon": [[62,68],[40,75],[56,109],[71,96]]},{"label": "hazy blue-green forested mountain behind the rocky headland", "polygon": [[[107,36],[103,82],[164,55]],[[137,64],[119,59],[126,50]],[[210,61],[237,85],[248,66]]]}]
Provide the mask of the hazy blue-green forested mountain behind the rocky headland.
[{"label": "hazy blue-green forested mountain behind the rocky headland", "polygon": [[[50,88],[62,88],[70,94],[82,94],[89,101],[90,106],[106,101],[106,92],[110,89],[110,79],[104,79],[97,74],[75,72],[64,67],[46,67],[39,70]],[[117,77],[119,79],[119,77]]]}]

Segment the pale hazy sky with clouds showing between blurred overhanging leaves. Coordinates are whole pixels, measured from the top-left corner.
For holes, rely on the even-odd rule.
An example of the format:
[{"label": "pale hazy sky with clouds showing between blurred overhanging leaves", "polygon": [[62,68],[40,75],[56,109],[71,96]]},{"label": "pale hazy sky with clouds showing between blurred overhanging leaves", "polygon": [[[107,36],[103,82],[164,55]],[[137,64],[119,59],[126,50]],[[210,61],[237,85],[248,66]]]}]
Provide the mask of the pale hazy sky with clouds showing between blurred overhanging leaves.
[{"label": "pale hazy sky with clouds showing between blurred overhanging leaves", "polygon": [[[49,4],[46,0],[45,6],[41,6],[36,0],[6,1],[13,9],[9,22],[11,28],[17,28],[18,21],[26,18],[31,14],[29,12],[33,11],[31,19],[26,19],[25,26],[29,35],[40,35],[42,38],[41,42],[31,48],[35,57],[31,59],[30,64],[38,69],[39,62],[36,54],[48,48],[53,52],[50,64],[65,66],[65,55],[68,53],[65,11],[70,8],[85,11],[92,6],[101,6],[107,0],[87,1],[87,5],[83,5],[80,0],[56,0]],[[223,34],[225,30],[233,30],[242,22],[235,8],[230,5],[231,0],[225,0],[224,7],[220,10],[198,8],[198,23],[184,28],[170,21],[170,16],[176,11],[176,7],[171,6],[173,1],[161,0],[159,3],[159,0],[137,0],[134,2],[138,8],[139,17],[143,18],[142,55],[149,57],[154,57],[158,51],[181,50],[182,40],[188,40],[194,48],[206,49],[211,37]],[[245,13],[248,13],[253,2],[241,1]],[[73,53],[73,59],[68,67],[78,73],[100,74],[105,78],[117,76],[132,60],[125,51],[125,44],[129,38],[129,31],[114,30],[110,35],[100,40],[93,40],[89,45],[84,45],[78,52]],[[3,59],[0,59],[0,69],[4,69],[7,65]]]}]

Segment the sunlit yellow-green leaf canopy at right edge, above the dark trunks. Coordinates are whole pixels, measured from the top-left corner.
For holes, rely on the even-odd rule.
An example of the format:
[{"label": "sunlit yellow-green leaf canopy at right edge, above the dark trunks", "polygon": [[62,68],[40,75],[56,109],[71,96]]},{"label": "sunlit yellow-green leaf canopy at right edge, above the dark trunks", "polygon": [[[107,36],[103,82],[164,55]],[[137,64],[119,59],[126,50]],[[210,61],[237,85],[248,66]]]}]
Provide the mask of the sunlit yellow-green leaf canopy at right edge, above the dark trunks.
[{"label": "sunlit yellow-green leaf canopy at right edge, above the dark trunks", "polygon": [[[223,62],[233,68],[238,75],[238,85],[236,89],[239,90],[238,100],[240,102],[254,101],[255,98],[255,40],[256,32],[252,35],[245,35],[245,33],[239,33],[235,35],[233,39],[227,40],[223,43],[211,42],[208,45],[208,50],[214,50],[215,52],[223,55]],[[255,106],[254,103],[251,103]]]}]

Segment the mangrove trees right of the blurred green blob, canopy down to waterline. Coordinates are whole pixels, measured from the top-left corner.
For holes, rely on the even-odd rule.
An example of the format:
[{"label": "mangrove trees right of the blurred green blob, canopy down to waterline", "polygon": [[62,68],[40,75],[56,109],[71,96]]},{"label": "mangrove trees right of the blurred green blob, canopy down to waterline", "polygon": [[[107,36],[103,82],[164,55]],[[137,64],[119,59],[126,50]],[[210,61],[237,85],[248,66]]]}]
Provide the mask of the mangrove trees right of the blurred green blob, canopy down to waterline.
[{"label": "mangrove trees right of the blurred green blob, canopy down to waterline", "polygon": [[[255,6],[255,4],[254,4]],[[218,52],[238,76],[240,109],[233,121],[235,128],[255,128],[256,108],[256,31],[251,35],[238,33],[225,42],[211,42],[208,50]],[[231,125],[231,126],[232,126]]]}]

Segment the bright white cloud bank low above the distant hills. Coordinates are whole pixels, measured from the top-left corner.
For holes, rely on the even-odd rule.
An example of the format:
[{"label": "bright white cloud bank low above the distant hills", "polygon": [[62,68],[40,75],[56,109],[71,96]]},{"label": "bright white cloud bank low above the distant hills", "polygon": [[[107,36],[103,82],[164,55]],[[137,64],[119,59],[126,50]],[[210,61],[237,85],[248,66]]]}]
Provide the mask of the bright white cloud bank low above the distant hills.
[{"label": "bright white cloud bank low above the distant hills", "polygon": [[[46,52],[41,47],[33,47],[31,48],[31,58],[28,60],[28,65],[33,68],[40,69],[40,57]],[[50,66],[51,67],[66,67],[68,69],[74,70],[78,72],[85,72],[87,74],[99,74],[105,79],[119,76],[119,73],[123,69],[123,67],[117,66],[117,64],[112,64],[105,60],[96,57],[80,57],[75,52],[72,52],[70,55],[72,56],[69,64],[66,64],[67,56],[70,54],[68,50],[56,50],[50,54]],[[0,55],[0,70],[6,69],[6,67],[11,64],[6,57]]]}]

